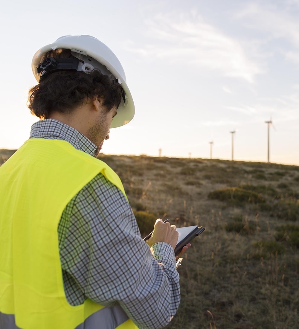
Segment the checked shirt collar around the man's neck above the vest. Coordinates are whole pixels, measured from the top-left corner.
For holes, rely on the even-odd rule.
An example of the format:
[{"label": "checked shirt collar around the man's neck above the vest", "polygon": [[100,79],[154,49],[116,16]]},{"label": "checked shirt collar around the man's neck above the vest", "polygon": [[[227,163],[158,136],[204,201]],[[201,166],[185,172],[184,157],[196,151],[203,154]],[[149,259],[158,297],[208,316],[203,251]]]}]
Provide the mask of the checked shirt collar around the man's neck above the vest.
[{"label": "checked shirt collar around the man's neck above the vest", "polygon": [[65,140],[75,149],[93,157],[97,149],[97,146],[78,130],[55,119],[44,119],[34,123],[29,138]]}]

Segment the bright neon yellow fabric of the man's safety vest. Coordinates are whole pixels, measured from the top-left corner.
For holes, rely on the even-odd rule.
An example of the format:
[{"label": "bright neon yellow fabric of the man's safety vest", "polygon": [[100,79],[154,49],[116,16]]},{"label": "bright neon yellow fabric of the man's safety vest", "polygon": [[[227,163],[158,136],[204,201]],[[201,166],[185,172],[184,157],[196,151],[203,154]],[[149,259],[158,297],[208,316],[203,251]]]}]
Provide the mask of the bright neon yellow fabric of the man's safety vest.
[{"label": "bright neon yellow fabric of the man's safety vest", "polygon": [[63,140],[29,139],[0,167],[0,312],[18,327],[74,329],[104,308],[67,303],[57,233],[67,203],[99,172],[125,195],[107,164]]}]

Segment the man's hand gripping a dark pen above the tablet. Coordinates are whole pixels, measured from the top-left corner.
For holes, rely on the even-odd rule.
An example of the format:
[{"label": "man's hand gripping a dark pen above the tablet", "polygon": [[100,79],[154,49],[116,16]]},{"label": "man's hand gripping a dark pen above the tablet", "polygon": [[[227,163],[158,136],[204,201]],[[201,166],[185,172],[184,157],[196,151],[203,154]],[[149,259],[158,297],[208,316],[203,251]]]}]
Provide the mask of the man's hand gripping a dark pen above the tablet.
[{"label": "man's hand gripping a dark pen above the tablet", "polygon": [[156,220],[156,223],[154,225],[154,232],[152,236],[147,240],[147,243],[151,247],[157,242],[166,242],[170,244],[174,249],[177,245],[178,237],[179,233],[176,231],[176,226],[170,226],[169,223],[163,224],[162,219],[159,218]]}]

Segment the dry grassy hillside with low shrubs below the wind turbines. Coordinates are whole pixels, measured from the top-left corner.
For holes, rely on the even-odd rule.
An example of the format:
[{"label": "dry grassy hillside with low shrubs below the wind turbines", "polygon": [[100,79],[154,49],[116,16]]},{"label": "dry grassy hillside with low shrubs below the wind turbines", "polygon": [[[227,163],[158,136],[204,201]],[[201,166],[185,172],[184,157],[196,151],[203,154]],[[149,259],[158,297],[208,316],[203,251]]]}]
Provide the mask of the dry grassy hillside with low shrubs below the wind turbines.
[{"label": "dry grassy hillside with low shrubs below the wind turbines", "polygon": [[143,236],[157,217],[206,228],[179,267],[182,300],[167,328],[299,328],[298,166],[99,158],[122,179]]}]

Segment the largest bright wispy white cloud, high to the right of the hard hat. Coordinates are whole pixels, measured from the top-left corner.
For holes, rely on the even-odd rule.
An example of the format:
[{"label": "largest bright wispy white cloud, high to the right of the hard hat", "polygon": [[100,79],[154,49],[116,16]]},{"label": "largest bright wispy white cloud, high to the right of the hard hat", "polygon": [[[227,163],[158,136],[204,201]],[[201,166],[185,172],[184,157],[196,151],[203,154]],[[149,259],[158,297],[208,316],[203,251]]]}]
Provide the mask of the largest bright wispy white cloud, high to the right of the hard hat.
[{"label": "largest bright wispy white cloud, high to the right of the hard hat", "polygon": [[128,51],[152,59],[166,59],[168,62],[218,70],[227,77],[241,78],[254,82],[262,73],[259,65],[248,58],[240,43],[207,24],[196,14],[163,16],[157,15],[147,21],[148,38],[155,37],[155,45],[142,47],[131,44]]}]

